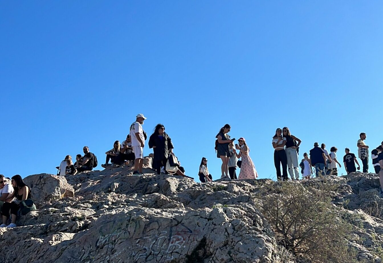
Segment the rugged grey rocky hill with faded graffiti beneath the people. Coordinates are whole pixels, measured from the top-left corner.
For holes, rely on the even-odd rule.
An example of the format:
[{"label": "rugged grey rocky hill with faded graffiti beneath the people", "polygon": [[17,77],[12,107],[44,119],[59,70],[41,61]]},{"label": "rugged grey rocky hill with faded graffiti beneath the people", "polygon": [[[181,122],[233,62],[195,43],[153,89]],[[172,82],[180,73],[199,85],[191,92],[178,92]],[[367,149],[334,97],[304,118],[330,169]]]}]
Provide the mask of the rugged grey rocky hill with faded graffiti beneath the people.
[{"label": "rugged grey rocky hill with faded graffiti beneath the people", "polygon": [[[131,169],[121,167],[26,177],[38,211],[20,217],[19,227],[0,228],[2,261],[303,262],[281,245],[261,211],[260,190],[281,183],[261,179],[201,184],[155,175],[147,157],[145,163],[143,176],[131,176]],[[360,262],[379,263],[383,255],[378,179],[355,173],[327,180],[336,186],[329,192],[333,206],[351,215],[347,218],[354,229],[348,246]],[[320,180],[288,184],[306,187]]]}]

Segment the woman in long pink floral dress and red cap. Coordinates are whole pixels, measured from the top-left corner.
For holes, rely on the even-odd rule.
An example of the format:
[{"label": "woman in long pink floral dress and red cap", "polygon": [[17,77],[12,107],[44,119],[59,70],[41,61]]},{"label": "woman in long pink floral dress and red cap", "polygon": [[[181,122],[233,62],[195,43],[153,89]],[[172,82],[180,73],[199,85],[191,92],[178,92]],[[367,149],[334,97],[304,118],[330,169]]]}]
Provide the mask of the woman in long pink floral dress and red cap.
[{"label": "woman in long pink floral dress and red cap", "polygon": [[258,177],[257,170],[255,170],[255,166],[253,161],[249,156],[250,149],[246,145],[246,140],[241,137],[238,139],[238,144],[236,144],[236,149],[239,150],[239,154],[236,155],[238,158],[241,158],[241,172],[239,172],[238,179],[255,179]]}]

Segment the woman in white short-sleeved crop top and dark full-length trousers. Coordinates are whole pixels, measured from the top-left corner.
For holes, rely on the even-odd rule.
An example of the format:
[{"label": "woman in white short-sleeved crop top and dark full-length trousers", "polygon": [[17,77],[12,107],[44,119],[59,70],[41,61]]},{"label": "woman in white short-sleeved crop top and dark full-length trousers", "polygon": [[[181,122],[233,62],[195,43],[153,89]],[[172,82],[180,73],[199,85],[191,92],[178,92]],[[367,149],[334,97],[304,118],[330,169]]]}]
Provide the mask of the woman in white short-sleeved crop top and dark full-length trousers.
[{"label": "woman in white short-sleeved crop top and dark full-length trousers", "polygon": [[[273,136],[274,165],[277,170],[277,180],[287,181],[287,157],[285,151],[286,138],[282,136],[282,129],[278,128]],[[281,175],[282,164],[282,175]]]}]

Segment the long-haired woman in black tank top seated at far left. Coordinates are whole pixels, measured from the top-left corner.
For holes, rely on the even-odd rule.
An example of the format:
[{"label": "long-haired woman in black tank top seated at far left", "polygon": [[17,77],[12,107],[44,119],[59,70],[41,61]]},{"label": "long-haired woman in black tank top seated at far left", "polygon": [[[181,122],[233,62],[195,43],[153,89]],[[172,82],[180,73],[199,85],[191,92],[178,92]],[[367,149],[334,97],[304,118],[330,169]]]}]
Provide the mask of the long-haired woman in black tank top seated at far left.
[{"label": "long-haired woman in black tank top seated at far left", "polygon": [[16,200],[12,201],[11,203],[4,203],[2,207],[2,214],[3,214],[3,225],[7,224],[8,217],[9,217],[9,211],[11,211],[12,221],[11,224],[7,225],[7,227],[16,227],[16,219],[17,219],[17,212],[20,208],[20,201],[24,201],[26,199],[31,198],[31,192],[29,190],[29,187],[24,183],[23,179],[20,175],[12,176],[11,180],[13,189],[13,193],[9,198],[16,198]]}]

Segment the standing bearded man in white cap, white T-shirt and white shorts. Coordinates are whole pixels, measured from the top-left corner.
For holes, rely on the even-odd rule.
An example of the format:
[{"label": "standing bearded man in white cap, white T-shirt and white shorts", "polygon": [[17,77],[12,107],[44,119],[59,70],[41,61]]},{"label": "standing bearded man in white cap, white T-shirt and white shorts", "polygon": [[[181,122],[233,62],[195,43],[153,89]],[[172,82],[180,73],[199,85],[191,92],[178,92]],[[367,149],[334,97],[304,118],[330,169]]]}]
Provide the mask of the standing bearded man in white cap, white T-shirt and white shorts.
[{"label": "standing bearded man in white cap, white T-shirt and white shorts", "polygon": [[135,155],[133,175],[142,175],[142,165],[144,164],[144,130],[142,124],[146,118],[143,114],[137,114],[136,121],[130,126],[130,138],[133,152]]}]

